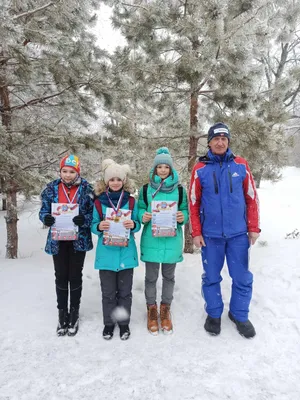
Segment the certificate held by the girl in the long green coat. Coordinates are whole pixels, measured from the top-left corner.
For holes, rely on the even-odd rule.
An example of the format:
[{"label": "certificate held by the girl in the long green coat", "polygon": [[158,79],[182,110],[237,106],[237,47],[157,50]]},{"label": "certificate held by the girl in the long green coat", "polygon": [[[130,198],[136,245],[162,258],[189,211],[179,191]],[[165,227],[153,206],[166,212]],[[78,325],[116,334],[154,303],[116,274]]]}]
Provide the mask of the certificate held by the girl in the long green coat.
[{"label": "certificate held by the girl in the long green coat", "polygon": [[152,236],[176,236],[177,201],[152,201]]}]

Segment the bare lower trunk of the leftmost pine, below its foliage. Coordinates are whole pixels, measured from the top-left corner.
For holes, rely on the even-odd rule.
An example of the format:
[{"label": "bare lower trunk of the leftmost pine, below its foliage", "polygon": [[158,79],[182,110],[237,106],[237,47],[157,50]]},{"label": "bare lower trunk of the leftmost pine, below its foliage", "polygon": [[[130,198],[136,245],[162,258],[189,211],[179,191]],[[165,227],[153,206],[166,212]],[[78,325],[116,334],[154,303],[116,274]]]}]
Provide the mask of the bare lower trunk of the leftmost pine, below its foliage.
[{"label": "bare lower trunk of the leftmost pine, below its foliage", "polygon": [[7,213],[6,220],[7,242],[6,258],[18,258],[18,212],[17,212],[17,190],[13,182],[7,191]]}]

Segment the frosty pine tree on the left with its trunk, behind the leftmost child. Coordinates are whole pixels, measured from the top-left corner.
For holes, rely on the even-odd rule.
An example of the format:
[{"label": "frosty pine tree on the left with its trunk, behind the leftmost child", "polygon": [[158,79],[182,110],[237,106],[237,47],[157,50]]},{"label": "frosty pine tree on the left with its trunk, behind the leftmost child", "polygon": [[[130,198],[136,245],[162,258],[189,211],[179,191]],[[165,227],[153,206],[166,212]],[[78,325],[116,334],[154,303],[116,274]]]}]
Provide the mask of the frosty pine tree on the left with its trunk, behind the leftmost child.
[{"label": "frosty pine tree on the left with its trunk, behind the leftmost child", "polygon": [[4,0],[0,15],[0,178],[7,258],[17,257],[17,193],[35,189],[58,157],[86,145],[95,98],[109,101],[105,52],[88,27],[96,1]]}]

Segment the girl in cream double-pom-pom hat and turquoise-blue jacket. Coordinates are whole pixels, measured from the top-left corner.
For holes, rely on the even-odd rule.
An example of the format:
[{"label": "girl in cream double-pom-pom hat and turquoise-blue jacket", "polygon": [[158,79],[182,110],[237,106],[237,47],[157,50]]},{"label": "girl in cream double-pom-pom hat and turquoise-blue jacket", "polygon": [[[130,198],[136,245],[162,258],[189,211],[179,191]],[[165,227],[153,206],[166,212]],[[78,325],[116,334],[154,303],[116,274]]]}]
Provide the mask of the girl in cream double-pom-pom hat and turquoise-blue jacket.
[{"label": "girl in cream double-pom-pom hat and turquoise-blue jacket", "polygon": [[[119,165],[112,160],[102,163],[104,180],[95,186],[95,200],[92,220],[92,232],[98,236],[95,269],[99,270],[104,330],[103,338],[111,339],[118,321],[120,337],[126,340],[130,336],[129,322],[132,304],[133,268],[138,266],[138,255],[134,232],[140,230],[138,209],[134,198],[130,196],[131,182],[128,178],[128,165]],[[119,210],[131,210],[131,219],[123,222],[130,229],[127,243],[116,243],[107,239],[106,231],[110,227],[106,218],[107,208],[111,209],[114,220],[119,220]],[[126,242],[126,241],[125,241]]]}]

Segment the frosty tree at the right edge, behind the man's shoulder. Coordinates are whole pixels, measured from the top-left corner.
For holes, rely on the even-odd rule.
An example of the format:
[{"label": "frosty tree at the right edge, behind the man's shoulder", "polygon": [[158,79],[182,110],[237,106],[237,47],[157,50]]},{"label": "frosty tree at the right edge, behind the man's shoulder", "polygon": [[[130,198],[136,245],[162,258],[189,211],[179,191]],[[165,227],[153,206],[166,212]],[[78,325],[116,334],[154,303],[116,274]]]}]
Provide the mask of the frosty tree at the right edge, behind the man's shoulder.
[{"label": "frosty tree at the right edge, behind the man's shoulder", "polygon": [[[264,73],[254,86],[253,107],[225,109],[232,147],[248,159],[257,186],[262,178],[279,179],[287,163],[292,141],[285,130],[295,119],[294,104],[300,93],[300,5],[277,2],[267,8],[266,17],[268,24],[261,24],[256,32],[261,41],[253,63],[262,66]],[[216,115],[224,118],[218,110]]]}]

